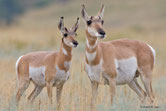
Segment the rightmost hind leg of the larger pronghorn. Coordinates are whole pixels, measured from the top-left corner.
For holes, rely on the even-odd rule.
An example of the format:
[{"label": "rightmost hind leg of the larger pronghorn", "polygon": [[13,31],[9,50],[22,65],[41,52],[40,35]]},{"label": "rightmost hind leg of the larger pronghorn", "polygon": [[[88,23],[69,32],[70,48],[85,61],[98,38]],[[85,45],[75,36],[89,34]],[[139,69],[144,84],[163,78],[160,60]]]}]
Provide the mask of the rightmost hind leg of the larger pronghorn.
[{"label": "rightmost hind leg of the larger pronghorn", "polygon": [[153,95],[152,87],[151,87],[151,77],[147,77],[146,75],[141,74],[141,80],[144,84],[146,93],[148,94],[148,96],[150,98],[150,102],[153,103],[154,95]]}]

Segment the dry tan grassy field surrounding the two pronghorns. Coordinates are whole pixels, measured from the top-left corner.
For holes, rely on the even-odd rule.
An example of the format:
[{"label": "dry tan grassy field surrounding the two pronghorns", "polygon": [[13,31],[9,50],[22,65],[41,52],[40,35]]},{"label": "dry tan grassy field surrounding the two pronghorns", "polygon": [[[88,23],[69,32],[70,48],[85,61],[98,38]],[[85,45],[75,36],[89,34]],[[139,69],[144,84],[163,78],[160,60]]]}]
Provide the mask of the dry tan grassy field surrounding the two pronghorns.
[{"label": "dry tan grassy field surrounding the two pronghorns", "polygon": [[[95,5],[94,5],[95,2]],[[57,23],[61,16],[67,27],[80,17],[81,5],[85,4],[89,15],[95,15],[101,4],[105,9],[105,30],[107,38],[102,41],[129,38],[150,44],[157,54],[153,72],[153,90],[156,96],[153,108],[141,104],[137,95],[127,86],[117,86],[116,102],[110,105],[109,87],[99,87],[96,101],[97,111],[165,111],[166,110],[166,10],[164,0],[71,0],[66,4],[52,3],[42,9],[27,11],[18,22],[10,27],[0,27],[0,111],[15,111],[13,105],[16,93],[15,62],[23,54],[40,50],[59,50],[61,35]],[[65,5],[65,7],[64,7]],[[62,111],[89,111],[91,97],[90,80],[83,70],[85,53],[84,22],[81,20],[77,40],[79,47],[73,50],[70,79],[65,83],[62,94]],[[142,82],[139,79],[139,83]],[[27,96],[33,84],[22,96],[19,111],[27,109]],[[34,111],[51,111],[46,88],[36,98]],[[143,106],[143,107],[142,107]]]}]

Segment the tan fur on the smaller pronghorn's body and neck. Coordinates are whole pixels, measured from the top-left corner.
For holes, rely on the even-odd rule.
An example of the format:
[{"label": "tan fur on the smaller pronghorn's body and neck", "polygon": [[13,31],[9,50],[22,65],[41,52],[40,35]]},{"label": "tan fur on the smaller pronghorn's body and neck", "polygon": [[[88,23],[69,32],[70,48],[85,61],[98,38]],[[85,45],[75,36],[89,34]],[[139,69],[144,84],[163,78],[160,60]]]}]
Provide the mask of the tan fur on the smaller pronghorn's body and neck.
[{"label": "tan fur on the smaller pronghorn's body and neck", "polygon": [[[62,52],[62,48],[64,48],[68,55],[65,55]],[[71,61],[72,54],[71,54],[72,48],[65,45],[64,43],[61,43],[61,48],[59,52],[50,51],[50,52],[33,52],[24,55],[20,62],[18,63],[18,78],[19,78],[19,85],[22,84],[24,81],[30,81],[29,79],[29,67],[40,67],[45,66],[45,80],[46,83],[50,83],[51,81],[54,81],[54,78],[56,77],[56,65],[61,70],[65,70],[68,72],[69,69],[66,69],[64,66],[65,61]],[[20,83],[21,82],[21,83]],[[55,81],[57,82],[57,81]],[[62,84],[65,81],[62,81]],[[35,84],[35,81],[33,82]],[[56,83],[51,83],[56,84]],[[61,86],[61,85],[60,85]],[[18,93],[19,96],[19,93]],[[18,98],[19,100],[19,98]]]}]

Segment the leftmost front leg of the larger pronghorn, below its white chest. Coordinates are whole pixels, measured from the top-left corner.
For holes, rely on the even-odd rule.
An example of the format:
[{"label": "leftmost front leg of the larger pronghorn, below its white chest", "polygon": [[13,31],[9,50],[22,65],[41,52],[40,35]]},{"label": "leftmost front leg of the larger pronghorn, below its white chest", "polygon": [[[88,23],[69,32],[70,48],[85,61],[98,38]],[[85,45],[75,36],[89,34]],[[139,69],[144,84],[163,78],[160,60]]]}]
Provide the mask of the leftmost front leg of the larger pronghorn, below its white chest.
[{"label": "leftmost front leg of the larger pronghorn, below its white chest", "polygon": [[98,83],[91,81],[92,85],[92,98],[91,98],[91,111],[95,110],[95,102],[97,98]]}]

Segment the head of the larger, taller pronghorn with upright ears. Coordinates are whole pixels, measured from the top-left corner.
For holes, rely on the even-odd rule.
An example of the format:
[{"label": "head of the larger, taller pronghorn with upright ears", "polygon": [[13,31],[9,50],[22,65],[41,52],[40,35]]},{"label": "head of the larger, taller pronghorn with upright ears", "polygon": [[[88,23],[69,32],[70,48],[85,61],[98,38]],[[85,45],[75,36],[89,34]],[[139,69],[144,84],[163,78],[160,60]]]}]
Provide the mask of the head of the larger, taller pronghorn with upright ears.
[{"label": "head of the larger, taller pronghorn with upright ears", "polygon": [[104,21],[102,20],[104,14],[104,5],[96,16],[88,16],[85,6],[82,5],[82,17],[86,23],[86,30],[92,37],[104,38],[106,37],[103,30]]}]

